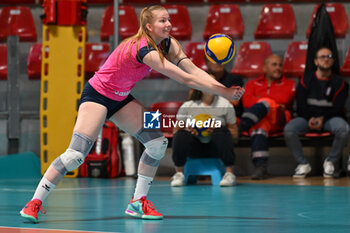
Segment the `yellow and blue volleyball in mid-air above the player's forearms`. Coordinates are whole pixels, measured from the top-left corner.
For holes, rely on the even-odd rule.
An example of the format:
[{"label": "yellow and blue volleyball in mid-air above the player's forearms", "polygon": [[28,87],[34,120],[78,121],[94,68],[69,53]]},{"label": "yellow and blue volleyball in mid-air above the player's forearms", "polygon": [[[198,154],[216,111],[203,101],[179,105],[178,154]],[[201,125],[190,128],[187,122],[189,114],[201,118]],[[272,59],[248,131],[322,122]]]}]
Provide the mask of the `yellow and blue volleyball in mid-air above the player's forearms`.
[{"label": "yellow and blue volleyball in mid-air above the player's forearms", "polygon": [[205,56],[216,64],[226,64],[235,55],[236,46],[233,40],[225,34],[214,34],[205,43]]}]

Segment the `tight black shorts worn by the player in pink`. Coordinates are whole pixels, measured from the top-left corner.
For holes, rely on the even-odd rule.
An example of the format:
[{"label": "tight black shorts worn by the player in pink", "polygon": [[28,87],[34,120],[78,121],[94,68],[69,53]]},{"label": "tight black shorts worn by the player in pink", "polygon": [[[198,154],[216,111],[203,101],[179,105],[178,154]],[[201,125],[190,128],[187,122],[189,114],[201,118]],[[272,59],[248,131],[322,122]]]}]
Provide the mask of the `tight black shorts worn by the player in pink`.
[{"label": "tight black shorts worn by the player in pink", "polygon": [[112,100],[104,95],[98,93],[89,82],[85,84],[83,93],[81,94],[80,104],[84,102],[94,102],[101,104],[107,108],[107,119],[113,116],[114,113],[118,112],[119,109],[124,107],[129,102],[133,101],[135,98],[132,95],[128,95],[122,101]]}]

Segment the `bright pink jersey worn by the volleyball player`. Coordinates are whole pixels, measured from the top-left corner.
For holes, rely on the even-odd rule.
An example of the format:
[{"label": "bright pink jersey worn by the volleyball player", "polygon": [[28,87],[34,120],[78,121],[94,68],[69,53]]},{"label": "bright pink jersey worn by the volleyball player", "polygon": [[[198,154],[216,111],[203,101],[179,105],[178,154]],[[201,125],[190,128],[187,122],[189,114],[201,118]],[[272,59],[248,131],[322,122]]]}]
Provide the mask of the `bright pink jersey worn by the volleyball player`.
[{"label": "bright pink jersey worn by the volleyball player", "polygon": [[[147,76],[151,70],[146,64],[137,61],[136,44],[127,49],[130,43],[131,41],[127,42],[123,50],[121,50],[122,46],[118,46],[89,80],[90,85],[97,92],[116,101],[125,99],[135,84]],[[140,49],[145,46],[147,46],[147,40],[142,38]],[[118,54],[118,51],[121,53]],[[120,56],[118,63],[117,54]]]}]

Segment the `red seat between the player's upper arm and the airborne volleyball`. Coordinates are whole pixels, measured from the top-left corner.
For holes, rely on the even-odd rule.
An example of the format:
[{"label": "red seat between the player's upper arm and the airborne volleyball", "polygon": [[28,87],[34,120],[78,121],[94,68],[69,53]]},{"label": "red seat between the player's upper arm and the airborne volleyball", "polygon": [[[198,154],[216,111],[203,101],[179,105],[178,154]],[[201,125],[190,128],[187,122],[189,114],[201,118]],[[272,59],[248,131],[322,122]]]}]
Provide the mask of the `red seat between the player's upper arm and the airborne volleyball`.
[{"label": "red seat between the player's upper arm and the airborne volleyball", "polygon": [[208,67],[205,64],[204,59],[204,42],[191,42],[188,43],[185,49],[186,55],[191,59],[191,61],[203,70],[207,70]]}]

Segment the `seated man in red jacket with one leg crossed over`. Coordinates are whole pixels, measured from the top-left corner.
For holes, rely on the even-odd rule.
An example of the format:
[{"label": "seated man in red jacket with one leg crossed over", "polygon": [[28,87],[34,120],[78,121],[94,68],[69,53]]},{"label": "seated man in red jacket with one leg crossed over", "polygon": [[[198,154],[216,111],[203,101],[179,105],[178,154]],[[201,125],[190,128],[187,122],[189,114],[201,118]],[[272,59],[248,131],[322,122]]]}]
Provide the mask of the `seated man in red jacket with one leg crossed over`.
[{"label": "seated man in red jacket with one leg crossed over", "polygon": [[264,63],[264,75],[246,84],[242,97],[246,109],[242,114],[239,132],[251,137],[251,156],[255,166],[252,179],[267,177],[269,156],[268,136],[282,132],[291,119],[295,82],[282,75],[282,59],[269,55]]}]

